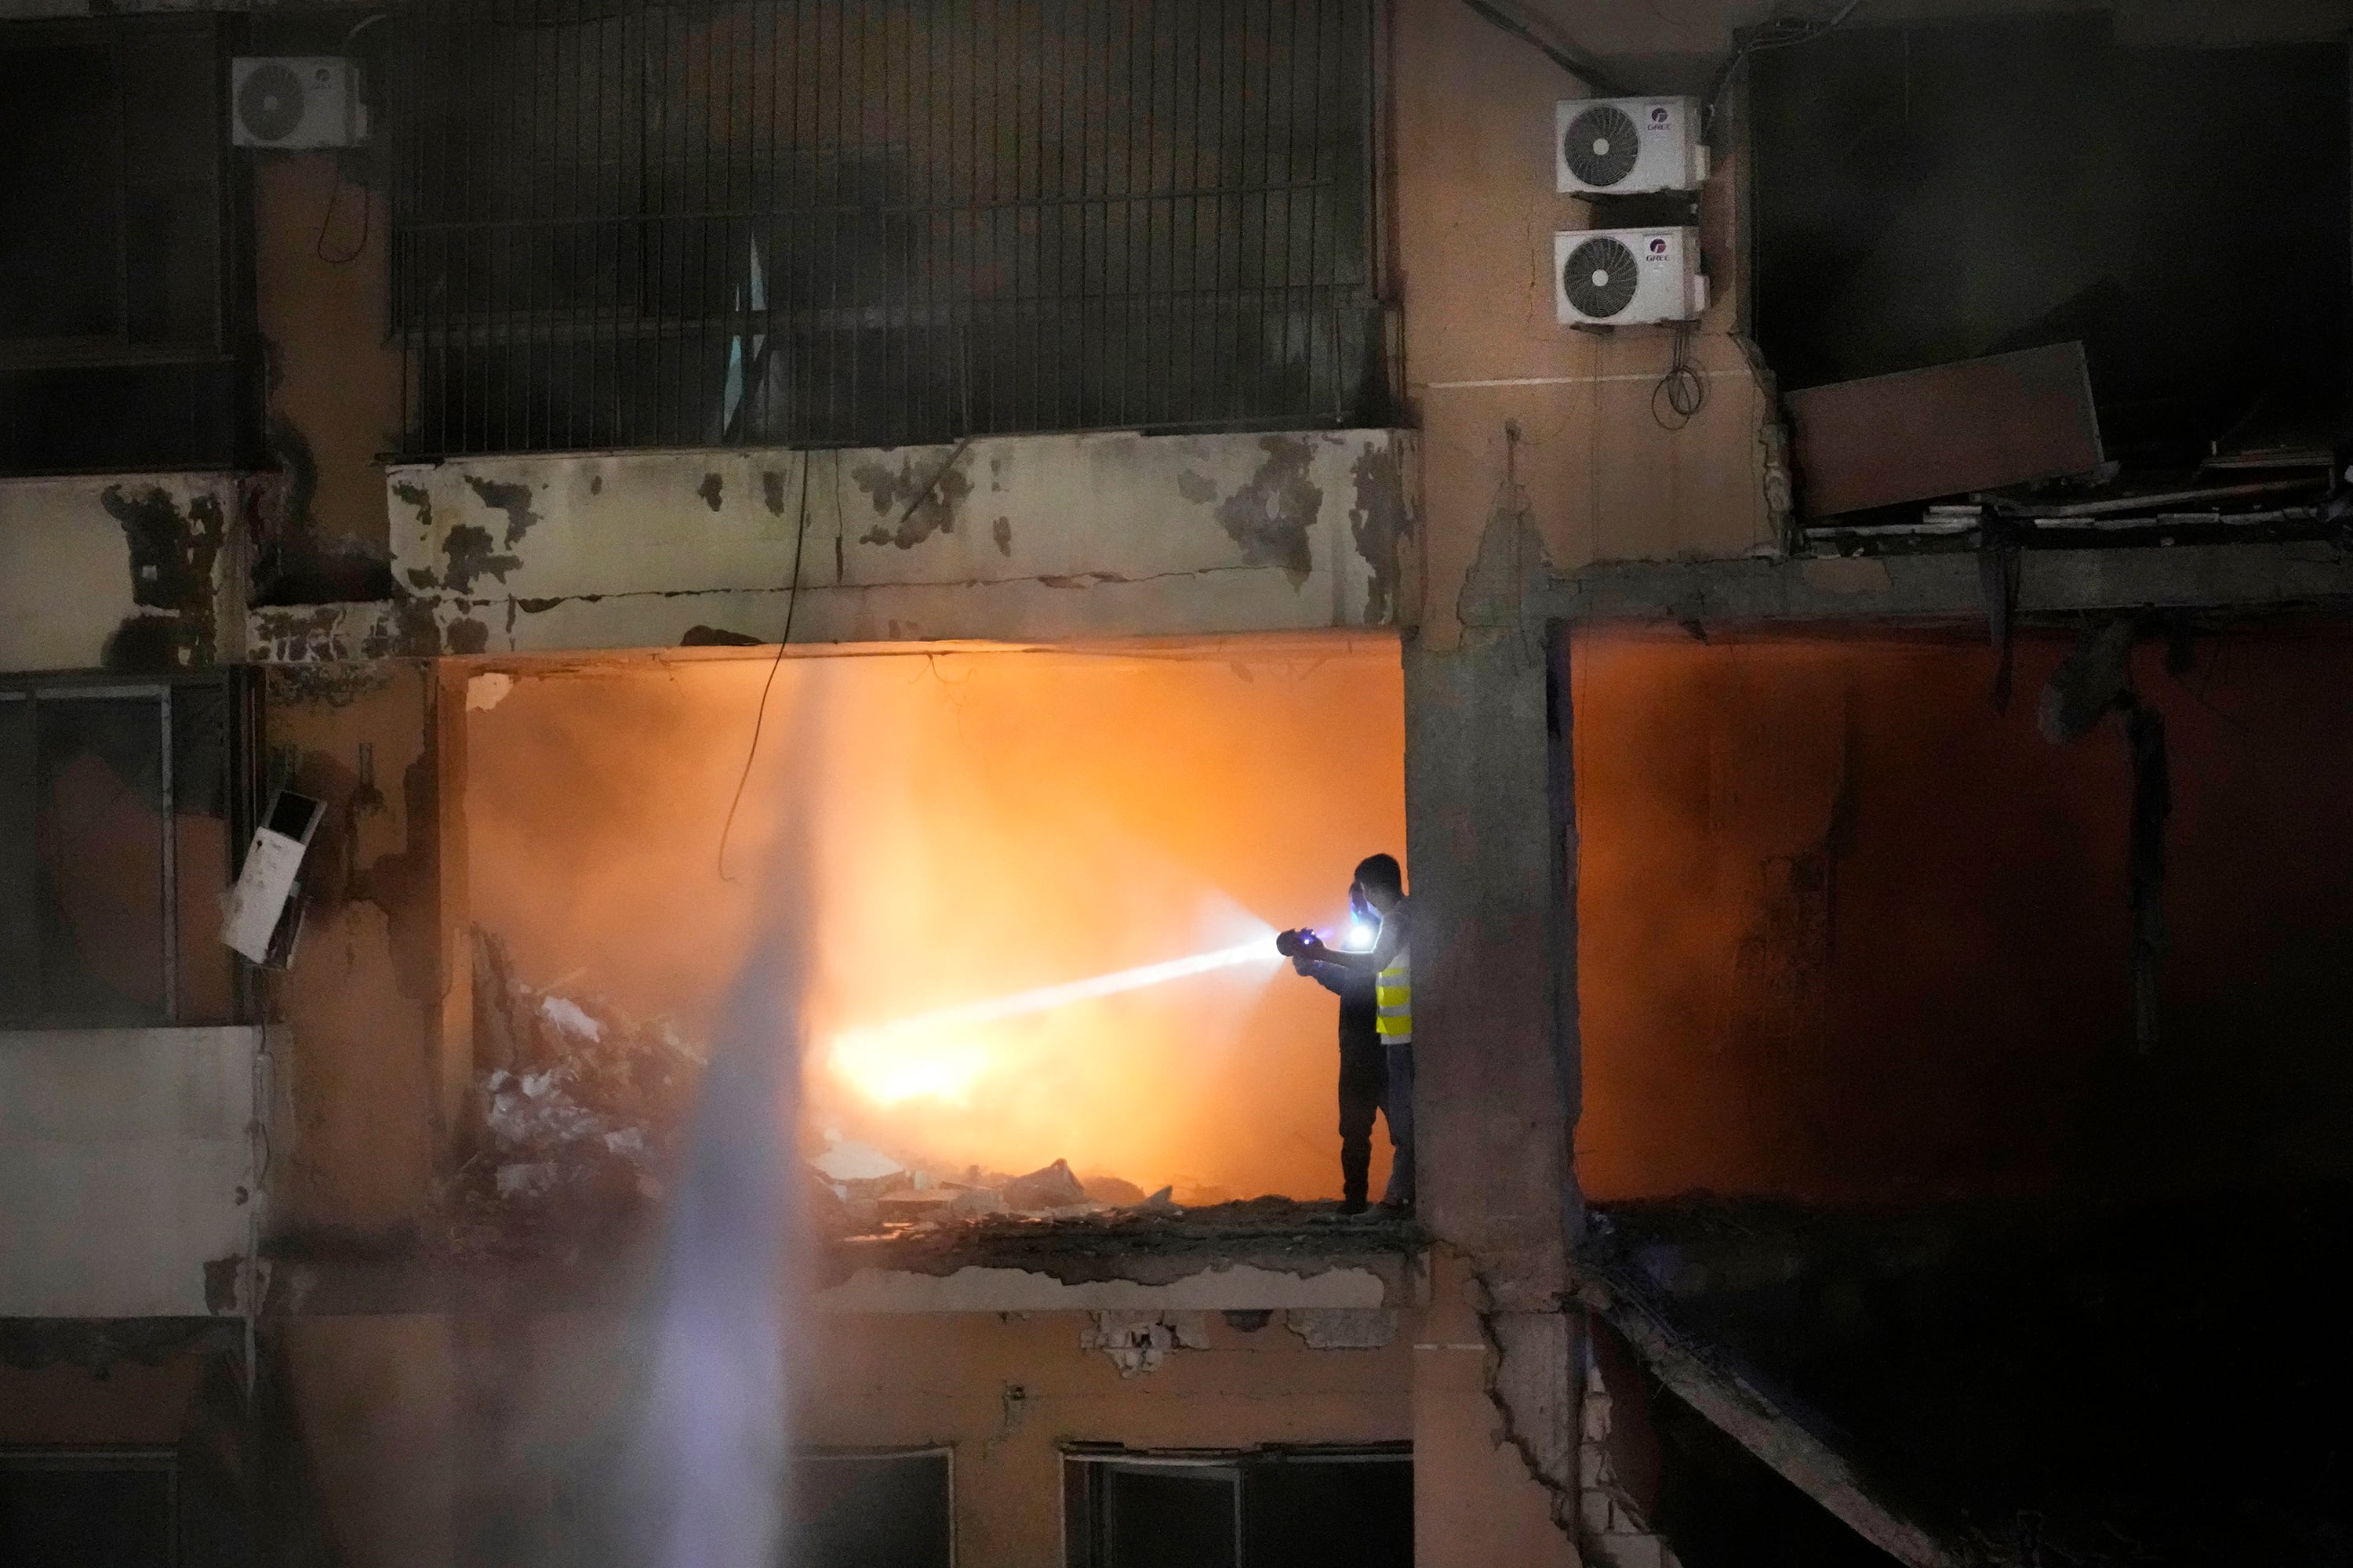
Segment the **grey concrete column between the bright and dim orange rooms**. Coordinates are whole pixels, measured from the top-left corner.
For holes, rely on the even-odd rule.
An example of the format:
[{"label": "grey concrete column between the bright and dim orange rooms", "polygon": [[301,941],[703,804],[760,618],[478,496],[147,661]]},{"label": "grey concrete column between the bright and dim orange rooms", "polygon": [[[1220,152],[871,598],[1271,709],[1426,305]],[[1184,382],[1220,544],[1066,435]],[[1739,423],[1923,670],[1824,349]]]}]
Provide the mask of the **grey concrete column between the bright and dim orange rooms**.
[{"label": "grey concrete column between the bright and dim orange rooms", "polygon": [[1459,644],[1405,649],[1414,1114],[1435,1241],[1414,1356],[1426,1568],[1579,1561],[1567,644],[1525,614],[1546,576],[1506,489]]}]

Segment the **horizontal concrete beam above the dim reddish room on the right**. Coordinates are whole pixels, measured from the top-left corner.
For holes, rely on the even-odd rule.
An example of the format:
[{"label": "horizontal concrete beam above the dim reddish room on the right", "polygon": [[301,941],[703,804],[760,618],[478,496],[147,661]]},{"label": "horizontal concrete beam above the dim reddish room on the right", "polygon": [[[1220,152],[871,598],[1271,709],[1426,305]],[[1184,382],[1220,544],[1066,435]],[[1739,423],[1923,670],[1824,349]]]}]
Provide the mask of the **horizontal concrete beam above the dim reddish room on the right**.
[{"label": "horizontal concrete beam above the dim reddish room on the right", "polygon": [[[2318,541],[2026,550],[2019,614],[2353,604],[2353,555]],[[1553,621],[1941,621],[1986,614],[1977,552],[1857,559],[1619,562],[1553,576],[1527,611]]]}]

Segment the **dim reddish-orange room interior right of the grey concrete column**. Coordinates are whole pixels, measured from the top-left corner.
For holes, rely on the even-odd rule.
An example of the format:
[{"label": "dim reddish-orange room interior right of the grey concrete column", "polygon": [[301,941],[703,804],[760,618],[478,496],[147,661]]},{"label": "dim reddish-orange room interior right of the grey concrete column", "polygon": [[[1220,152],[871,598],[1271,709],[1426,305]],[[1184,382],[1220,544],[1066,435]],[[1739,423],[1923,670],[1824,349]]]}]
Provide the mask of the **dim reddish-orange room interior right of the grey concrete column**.
[{"label": "dim reddish-orange room interior right of the grey concrete column", "polygon": [[2353,639],[2137,658],[2172,750],[2162,1039],[2132,1041],[2115,719],[2068,642],[1584,637],[1588,1194],[1906,1204],[2344,1178]]}]

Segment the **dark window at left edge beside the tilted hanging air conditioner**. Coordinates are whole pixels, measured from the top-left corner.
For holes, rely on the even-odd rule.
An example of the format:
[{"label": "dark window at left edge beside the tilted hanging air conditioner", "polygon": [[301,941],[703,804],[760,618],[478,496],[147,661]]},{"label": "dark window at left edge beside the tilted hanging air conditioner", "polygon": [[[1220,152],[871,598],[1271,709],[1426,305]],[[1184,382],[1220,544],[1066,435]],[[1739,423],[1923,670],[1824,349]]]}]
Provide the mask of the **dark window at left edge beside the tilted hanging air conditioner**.
[{"label": "dark window at left edge beside the tilted hanging air conditioner", "polygon": [[233,1023],[226,682],[0,686],[0,1025]]}]

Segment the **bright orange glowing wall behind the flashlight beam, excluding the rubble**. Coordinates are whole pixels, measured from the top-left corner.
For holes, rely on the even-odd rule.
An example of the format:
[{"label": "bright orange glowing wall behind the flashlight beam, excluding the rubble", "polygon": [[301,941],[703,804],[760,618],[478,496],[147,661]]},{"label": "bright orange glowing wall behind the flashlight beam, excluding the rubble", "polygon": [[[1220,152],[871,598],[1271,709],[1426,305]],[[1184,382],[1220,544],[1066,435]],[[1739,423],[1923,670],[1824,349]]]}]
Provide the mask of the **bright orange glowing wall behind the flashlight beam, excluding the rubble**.
[{"label": "bright orange glowing wall behind the flashlight beam, excluding the rubble", "polygon": [[[1405,851],[1393,642],[791,658],[722,875],[767,677],[765,658],[475,677],[473,917],[527,978],[711,1032],[755,922],[807,922],[812,1135],[948,1173],[1068,1159],[1195,1199],[1337,1194],[1337,1004],[1271,947],[974,1030],[979,1072],[955,1056],[941,1093],[889,1105],[828,1046],[1334,922],[1355,860]],[[807,877],[767,853],[795,790]]]}]

